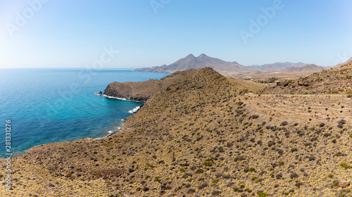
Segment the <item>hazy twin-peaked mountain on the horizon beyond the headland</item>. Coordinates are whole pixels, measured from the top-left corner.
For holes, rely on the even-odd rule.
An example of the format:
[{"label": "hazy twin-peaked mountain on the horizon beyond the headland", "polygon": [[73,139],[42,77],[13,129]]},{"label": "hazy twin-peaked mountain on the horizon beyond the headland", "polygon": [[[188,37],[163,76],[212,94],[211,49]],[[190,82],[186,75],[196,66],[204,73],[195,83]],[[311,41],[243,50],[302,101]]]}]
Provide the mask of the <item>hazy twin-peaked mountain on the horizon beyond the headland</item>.
[{"label": "hazy twin-peaked mountain on the horizon beyond the headland", "polygon": [[205,54],[201,54],[198,57],[195,57],[192,54],[187,55],[180,60],[170,64],[163,65],[161,67],[151,67],[151,68],[140,68],[135,69],[137,72],[176,72],[186,69],[201,69],[204,67],[211,67],[215,71],[220,72],[221,74],[243,74],[258,72],[257,69],[244,67],[237,62],[225,62],[218,58],[209,57]]}]

